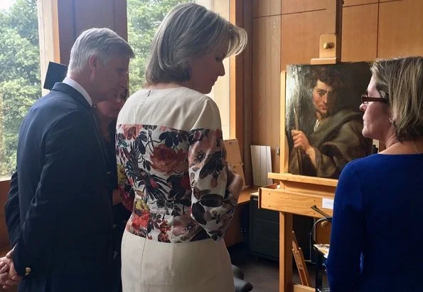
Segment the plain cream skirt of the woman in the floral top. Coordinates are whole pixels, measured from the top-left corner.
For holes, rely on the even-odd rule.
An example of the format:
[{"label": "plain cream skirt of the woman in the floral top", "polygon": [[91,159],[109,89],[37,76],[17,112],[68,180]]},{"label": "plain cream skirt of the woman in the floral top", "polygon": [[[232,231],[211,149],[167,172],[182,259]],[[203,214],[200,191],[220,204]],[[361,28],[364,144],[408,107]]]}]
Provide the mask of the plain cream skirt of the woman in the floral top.
[{"label": "plain cream skirt of the woman in the floral top", "polygon": [[124,231],[124,292],[234,292],[224,241],[168,244]]}]

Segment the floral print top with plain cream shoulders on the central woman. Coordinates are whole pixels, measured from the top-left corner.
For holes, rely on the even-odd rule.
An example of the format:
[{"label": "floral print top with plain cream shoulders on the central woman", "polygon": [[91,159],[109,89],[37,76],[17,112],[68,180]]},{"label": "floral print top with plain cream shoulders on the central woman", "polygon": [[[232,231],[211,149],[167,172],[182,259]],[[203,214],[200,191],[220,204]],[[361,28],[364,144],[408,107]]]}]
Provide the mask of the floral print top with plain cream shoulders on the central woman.
[{"label": "floral print top with plain cream shoulders on the central woman", "polygon": [[[129,98],[117,122],[119,190],[122,202],[132,211],[127,231],[172,243],[210,237],[220,240],[232,219],[236,199],[227,189],[222,131],[220,127],[213,127],[213,122],[198,122],[210,118],[211,114],[211,118],[218,119],[214,124],[220,125],[219,116],[215,116],[217,106],[213,100],[193,90],[175,90],[176,96],[181,93],[197,95],[196,104],[203,100],[199,113],[188,111],[191,115],[187,115],[187,120],[193,118],[193,125],[188,127],[200,124],[210,124],[210,127],[177,129],[157,123],[144,124],[142,117],[132,117],[141,111],[134,110],[134,105],[132,108],[127,106],[135,103],[141,109],[147,104],[149,110],[154,110],[154,100],[162,94],[158,91],[151,99],[151,92],[146,90],[135,94],[135,97],[141,95],[137,100]],[[166,98],[172,98],[172,90],[164,93],[168,93]],[[184,100],[183,96],[181,99]],[[179,107],[180,113],[181,108],[190,110],[191,106],[173,104],[172,109]],[[130,113],[125,113],[127,110]],[[154,120],[148,116],[146,120]],[[129,122],[122,123],[124,120]],[[139,122],[133,123],[136,120]],[[172,117],[164,121],[171,124]]]}]

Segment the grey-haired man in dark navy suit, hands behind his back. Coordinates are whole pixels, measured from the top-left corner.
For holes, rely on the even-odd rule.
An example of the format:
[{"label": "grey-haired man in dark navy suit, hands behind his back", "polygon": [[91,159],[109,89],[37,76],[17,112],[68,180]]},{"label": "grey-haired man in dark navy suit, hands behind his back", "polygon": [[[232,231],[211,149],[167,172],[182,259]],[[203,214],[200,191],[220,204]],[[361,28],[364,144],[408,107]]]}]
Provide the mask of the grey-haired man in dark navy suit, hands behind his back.
[{"label": "grey-haired man in dark navy suit, hands behind his back", "polygon": [[1,284],[21,280],[18,291],[31,292],[110,290],[108,162],[92,105],[126,88],[133,57],[107,28],[82,32],[63,83],[28,111],[6,204],[14,249],[0,259],[0,273],[8,271]]}]

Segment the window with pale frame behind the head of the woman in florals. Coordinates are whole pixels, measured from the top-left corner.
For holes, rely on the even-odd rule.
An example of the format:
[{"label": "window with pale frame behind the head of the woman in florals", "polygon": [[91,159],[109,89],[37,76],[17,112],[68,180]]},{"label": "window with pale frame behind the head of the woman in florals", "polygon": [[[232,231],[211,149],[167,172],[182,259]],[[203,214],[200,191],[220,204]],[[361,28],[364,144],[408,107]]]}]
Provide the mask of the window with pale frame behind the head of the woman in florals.
[{"label": "window with pale frame behind the head of the woman in florals", "polygon": [[[154,33],[167,12],[176,4],[196,2],[229,19],[229,0],[127,0],[128,41],[134,48],[136,58],[129,68],[129,92],[134,93],[145,83],[145,68],[149,57],[150,43]],[[230,74],[229,58],[223,62],[225,76],[220,77],[213,86],[210,98],[215,100],[220,110],[223,139],[230,138]]]}]

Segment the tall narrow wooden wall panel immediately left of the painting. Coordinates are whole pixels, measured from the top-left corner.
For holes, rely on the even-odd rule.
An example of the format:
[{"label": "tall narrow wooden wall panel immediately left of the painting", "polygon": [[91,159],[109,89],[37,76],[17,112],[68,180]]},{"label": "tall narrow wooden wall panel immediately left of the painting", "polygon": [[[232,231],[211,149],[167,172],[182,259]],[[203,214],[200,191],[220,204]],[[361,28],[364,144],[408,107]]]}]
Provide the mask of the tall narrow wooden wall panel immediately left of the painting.
[{"label": "tall narrow wooden wall panel immediately left of the painting", "polygon": [[253,19],[252,145],[272,148],[272,171],[279,172],[281,16]]}]

